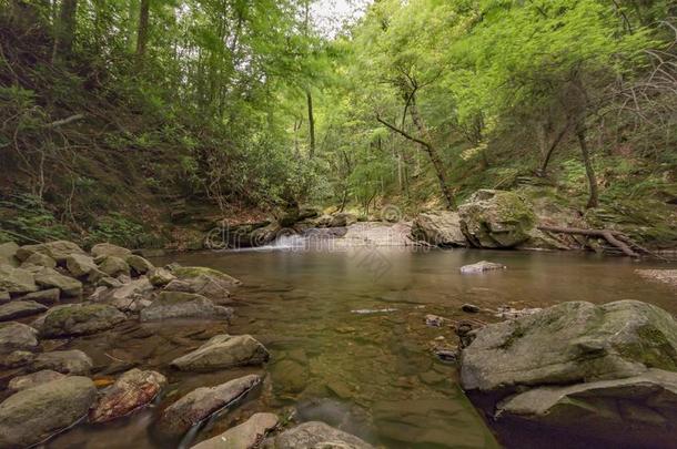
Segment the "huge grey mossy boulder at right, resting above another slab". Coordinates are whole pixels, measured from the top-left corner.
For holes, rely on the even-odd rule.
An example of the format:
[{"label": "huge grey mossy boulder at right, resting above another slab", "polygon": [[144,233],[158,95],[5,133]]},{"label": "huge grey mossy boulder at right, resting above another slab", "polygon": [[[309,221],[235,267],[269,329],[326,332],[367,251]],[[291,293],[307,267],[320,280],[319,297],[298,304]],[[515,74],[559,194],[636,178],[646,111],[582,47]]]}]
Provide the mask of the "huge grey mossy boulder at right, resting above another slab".
[{"label": "huge grey mossy boulder at right, resting above another slab", "polygon": [[473,330],[462,353],[466,390],[576,384],[677,370],[677,323],[636,300],[563,303]]}]

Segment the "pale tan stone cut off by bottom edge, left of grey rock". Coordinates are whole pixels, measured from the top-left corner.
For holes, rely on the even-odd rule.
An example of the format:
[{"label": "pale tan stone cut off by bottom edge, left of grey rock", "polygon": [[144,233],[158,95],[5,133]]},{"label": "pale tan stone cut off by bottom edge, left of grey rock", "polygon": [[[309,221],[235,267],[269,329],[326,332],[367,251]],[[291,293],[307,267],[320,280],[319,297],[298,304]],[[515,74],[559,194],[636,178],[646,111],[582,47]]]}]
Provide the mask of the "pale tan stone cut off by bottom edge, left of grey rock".
[{"label": "pale tan stone cut off by bottom edge, left of grey rock", "polygon": [[240,426],[202,441],[192,449],[255,448],[267,433],[275,430],[279,422],[274,414],[255,414]]}]

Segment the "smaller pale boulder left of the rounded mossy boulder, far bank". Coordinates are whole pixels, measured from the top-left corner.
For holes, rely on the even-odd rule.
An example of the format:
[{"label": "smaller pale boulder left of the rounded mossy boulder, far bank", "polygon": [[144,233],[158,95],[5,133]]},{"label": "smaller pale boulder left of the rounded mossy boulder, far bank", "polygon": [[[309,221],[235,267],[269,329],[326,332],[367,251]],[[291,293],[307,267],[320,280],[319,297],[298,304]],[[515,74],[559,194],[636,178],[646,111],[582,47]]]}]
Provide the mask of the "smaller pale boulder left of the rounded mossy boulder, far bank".
[{"label": "smaller pale boulder left of the rounded mossy boulder, far bank", "polygon": [[466,246],[457,212],[439,211],[418,214],[412,225],[414,241],[435,246]]}]

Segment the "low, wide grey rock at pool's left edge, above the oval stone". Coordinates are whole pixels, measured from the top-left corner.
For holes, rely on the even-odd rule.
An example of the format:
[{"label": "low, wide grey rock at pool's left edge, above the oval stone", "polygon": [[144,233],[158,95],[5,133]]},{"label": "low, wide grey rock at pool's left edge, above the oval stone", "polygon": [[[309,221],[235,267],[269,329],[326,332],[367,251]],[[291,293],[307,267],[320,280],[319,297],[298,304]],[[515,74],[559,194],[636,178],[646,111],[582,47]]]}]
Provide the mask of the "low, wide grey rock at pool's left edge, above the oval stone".
[{"label": "low, wide grey rock at pool's left edge, above the oval stone", "polygon": [[162,292],[155,300],[141,310],[142,322],[172,318],[228,319],[233,309],[216,306],[202,295],[182,292]]}]

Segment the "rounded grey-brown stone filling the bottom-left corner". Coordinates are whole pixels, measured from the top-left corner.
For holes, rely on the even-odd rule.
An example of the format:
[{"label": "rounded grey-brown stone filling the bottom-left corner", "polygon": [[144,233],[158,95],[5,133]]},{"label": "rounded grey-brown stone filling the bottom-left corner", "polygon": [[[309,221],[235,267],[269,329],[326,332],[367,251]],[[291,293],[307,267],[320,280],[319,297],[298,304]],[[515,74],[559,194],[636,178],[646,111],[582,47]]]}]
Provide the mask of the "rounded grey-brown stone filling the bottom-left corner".
[{"label": "rounded grey-brown stone filling the bottom-left corner", "polygon": [[38,445],[87,415],[97,388],[87,377],[64,377],[16,392],[0,404],[0,447]]}]

